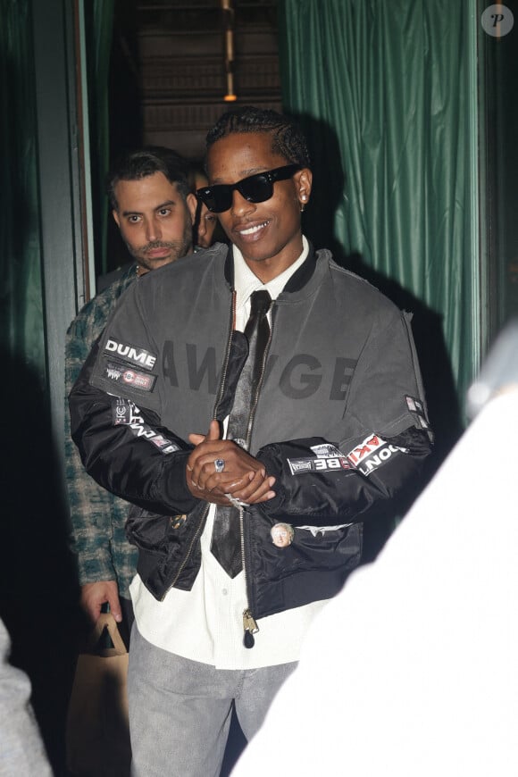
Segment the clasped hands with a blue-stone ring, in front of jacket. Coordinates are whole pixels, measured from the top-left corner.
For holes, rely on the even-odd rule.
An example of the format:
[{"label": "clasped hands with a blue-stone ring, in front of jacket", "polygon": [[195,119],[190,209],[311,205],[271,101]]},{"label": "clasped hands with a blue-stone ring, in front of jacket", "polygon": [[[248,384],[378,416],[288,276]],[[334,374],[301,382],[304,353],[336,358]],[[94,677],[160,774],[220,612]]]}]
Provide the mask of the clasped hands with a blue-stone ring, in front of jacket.
[{"label": "clasped hands with a blue-stone ring, in front of jacket", "polygon": [[[195,449],[187,461],[188,489],[197,499],[214,505],[229,505],[227,494],[247,505],[257,505],[275,497],[275,478],[264,465],[230,439],[221,439],[220,424],[211,421],[207,435],[189,434]],[[222,459],[224,468],[216,472],[214,462]]]}]

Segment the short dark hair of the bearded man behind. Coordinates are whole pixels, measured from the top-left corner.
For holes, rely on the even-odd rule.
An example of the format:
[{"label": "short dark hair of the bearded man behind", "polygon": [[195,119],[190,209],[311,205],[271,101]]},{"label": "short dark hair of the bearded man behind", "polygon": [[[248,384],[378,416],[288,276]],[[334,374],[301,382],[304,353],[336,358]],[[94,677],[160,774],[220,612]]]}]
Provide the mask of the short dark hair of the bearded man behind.
[{"label": "short dark hair of the bearded man behind", "polygon": [[176,184],[185,201],[190,191],[188,162],[176,151],[165,146],[144,146],[119,156],[106,176],[106,193],[110,205],[117,209],[115,187],[121,180],[140,180],[155,172],[163,172],[170,183]]}]

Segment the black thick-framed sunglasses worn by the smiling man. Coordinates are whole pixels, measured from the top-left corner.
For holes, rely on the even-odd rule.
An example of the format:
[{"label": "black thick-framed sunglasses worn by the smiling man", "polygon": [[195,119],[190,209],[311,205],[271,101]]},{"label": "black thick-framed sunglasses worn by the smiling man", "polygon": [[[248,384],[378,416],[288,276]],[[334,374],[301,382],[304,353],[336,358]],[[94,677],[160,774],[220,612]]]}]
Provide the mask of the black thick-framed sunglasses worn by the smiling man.
[{"label": "black thick-framed sunglasses worn by the smiling man", "polygon": [[213,213],[223,213],[232,207],[232,192],[236,188],[249,203],[263,203],[273,196],[273,184],[276,180],[287,180],[297,170],[302,170],[301,164],[285,164],[275,170],[256,172],[255,175],[238,180],[238,183],[221,183],[198,188],[196,197]]}]

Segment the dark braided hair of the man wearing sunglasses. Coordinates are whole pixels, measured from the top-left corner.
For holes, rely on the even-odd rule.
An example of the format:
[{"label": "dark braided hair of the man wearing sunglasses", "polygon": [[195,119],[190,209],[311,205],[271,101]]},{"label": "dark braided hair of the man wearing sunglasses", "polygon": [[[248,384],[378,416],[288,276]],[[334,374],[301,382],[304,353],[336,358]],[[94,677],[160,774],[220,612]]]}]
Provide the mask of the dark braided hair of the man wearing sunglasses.
[{"label": "dark braided hair of the man wearing sunglasses", "polygon": [[310,167],[311,160],[302,129],[288,116],[277,111],[243,105],[235,111],[223,113],[205,138],[205,148],[228,135],[246,132],[268,132],[272,135],[272,151],[288,163]]}]

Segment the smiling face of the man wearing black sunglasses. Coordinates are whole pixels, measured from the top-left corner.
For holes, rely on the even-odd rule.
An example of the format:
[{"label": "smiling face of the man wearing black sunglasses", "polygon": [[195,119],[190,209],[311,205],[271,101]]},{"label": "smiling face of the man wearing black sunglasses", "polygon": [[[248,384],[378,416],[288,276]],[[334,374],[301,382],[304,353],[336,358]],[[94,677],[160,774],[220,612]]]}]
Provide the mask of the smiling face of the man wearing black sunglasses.
[{"label": "smiling face of the man wearing black sunglasses", "polygon": [[[269,132],[239,132],[213,143],[207,154],[209,183],[233,184],[257,172],[290,163],[272,151]],[[266,283],[293,264],[302,253],[301,205],[311,192],[311,171],[297,171],[273,184],[263,203],[249,203],[235,189],[228,211],[219,213],[221,227],[238,246],[246,264]]]}]

